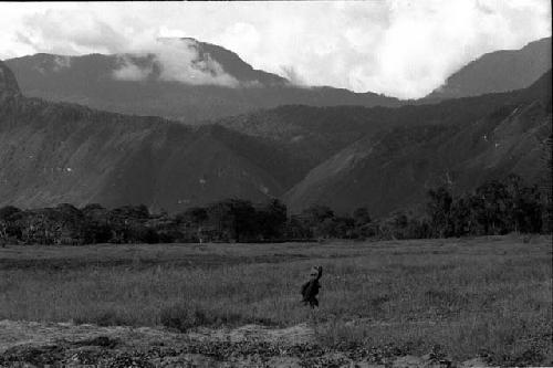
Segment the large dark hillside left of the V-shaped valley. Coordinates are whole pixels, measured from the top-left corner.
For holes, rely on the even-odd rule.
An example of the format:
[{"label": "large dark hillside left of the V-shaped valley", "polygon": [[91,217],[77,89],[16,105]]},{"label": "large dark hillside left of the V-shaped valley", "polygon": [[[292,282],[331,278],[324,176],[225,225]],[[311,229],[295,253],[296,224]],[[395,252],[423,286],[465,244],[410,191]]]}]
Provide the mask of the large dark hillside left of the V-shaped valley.
[{"label": "large dark hillside left of the V-shaped valley", "polygon": [[228,197],[262,201],[282,194],[298,166],[220,126],[23,97],[1,62],[0,96],[0,206],[145,203],[174,212]]}]

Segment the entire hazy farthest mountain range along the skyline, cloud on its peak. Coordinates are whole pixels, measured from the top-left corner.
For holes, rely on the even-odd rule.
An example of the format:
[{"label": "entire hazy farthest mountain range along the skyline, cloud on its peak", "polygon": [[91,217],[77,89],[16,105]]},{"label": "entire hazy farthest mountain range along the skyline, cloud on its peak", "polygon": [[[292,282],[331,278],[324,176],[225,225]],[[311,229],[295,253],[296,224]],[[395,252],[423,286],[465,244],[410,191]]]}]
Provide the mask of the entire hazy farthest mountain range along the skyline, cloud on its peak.
[{"label": "entire hazy farthest mountain range along the skyline, cloud on its peak", "polygon": [[158,44],[155,53],[41,53],[6,63],[27,96],[201,125],[281,105],[397,107],[508,92],[528,87],[551,69],[551,38],[546,38],[521,50],[484,54],[427,97],[401,102],[369,92],[295,86],[254,70],[230,50],[190,38],[159,39]]}]

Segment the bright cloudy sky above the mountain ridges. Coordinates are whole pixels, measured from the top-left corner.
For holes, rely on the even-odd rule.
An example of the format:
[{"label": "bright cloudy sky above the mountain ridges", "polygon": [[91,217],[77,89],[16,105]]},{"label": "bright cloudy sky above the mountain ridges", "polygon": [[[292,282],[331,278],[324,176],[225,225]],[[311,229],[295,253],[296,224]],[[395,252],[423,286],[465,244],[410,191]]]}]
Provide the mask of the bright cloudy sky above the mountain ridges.
[{"label": "bright cloudy sky above the mountain ridges", "polygon": [[[417,98],[487,52],[551,36],[551,13],[549,0],[0,2],[0,59],[154,52],[167,78],[236,85],[216,63],[188,77],[194,55],[156,41],[187,36],[298,85]],[[144,73],[126,66],[116,77]]]}]

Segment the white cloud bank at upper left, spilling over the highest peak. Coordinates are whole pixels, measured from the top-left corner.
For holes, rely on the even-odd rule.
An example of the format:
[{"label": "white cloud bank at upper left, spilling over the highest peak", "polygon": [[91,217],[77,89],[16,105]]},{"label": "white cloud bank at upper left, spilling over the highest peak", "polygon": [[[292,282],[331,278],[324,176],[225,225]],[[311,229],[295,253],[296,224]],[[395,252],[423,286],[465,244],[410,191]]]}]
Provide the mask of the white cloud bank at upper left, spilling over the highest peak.
[{"label": "white cloud bank at upper left, spilling over the highest peak", "polygon": [[[153,54],[163,81],[228,87],[239,85],[219,63],[208,56],[199,57],[196,43],[191,40],[159,40],[157,32],[148,29],[138,33],[129,30],[127,35],[124,30],[116,31],[115,27],[94,13],[73,15],[74,12],[70,10],[49,10],[43,14],[30,15],[24,20],[27,34],[19,33],[18,36],[38,51],[45,51],[43,48],[48,45],[49,52],[60,54],[126,52],[136,57]],[[165,34],[178,34],[176,31],[161,30]],[[121,56],[119,64],[113,73],[117,80],[143,81],[153,70],[152,64],[136,64],[129,55]]]}]

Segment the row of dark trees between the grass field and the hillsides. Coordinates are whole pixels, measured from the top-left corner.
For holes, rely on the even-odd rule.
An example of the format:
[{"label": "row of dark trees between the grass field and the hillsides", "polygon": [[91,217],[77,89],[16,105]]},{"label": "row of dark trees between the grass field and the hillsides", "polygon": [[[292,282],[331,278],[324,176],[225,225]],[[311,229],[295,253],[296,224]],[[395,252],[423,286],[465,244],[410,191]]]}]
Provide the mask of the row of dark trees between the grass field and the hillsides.
[{"label": "row of dark trees between the grass field and the hillsides", "polygon": [[518,176],[483,183],[453,197],[447,187],[428,191],[424,211],[398,211],[373,219],[361,207],[336,214],[326,206],[312,206],[289,215],[278,199],[252,203],[225,199],[177,214],[150,213],[148,208],[100,204],[76,208],[22,210],[0,208],[0,243],[91,244],[168,242],[278,242],[321,239],[421,239],[550,233],[551,196],[526,186]]}]

